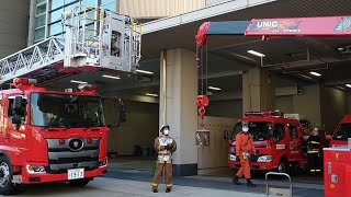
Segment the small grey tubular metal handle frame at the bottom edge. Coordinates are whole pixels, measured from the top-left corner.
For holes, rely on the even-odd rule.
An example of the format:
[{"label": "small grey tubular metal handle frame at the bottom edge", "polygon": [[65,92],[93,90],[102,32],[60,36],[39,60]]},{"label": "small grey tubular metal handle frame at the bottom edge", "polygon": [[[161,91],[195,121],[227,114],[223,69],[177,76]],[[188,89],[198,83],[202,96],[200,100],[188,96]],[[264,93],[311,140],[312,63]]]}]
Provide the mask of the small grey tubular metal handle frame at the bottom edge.
[{"label": "small grey tubular metal handle frame at the bottom edge", "polygon": [[[269,182],[269,176],[283,176],[287,177],[288,179],[288,186],[272,186]],[[288,188],[286,188],[288,187]],[[265,174],[265,194],[267,197],[273,197],[273,196],[280,196],[280,197],[293,197],[293,184],[292,184],[292,178],[290,177],[288,174],[286,173],[275,173],[275,172],[269,172]]]}]

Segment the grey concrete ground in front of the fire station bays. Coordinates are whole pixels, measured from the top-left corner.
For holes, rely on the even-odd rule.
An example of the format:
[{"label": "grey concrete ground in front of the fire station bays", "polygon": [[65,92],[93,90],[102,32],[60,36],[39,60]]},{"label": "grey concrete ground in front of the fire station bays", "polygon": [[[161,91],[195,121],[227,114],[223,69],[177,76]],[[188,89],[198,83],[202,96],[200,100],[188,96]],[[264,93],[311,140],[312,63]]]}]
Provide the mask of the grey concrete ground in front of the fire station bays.
[{"label": "grey concrete ground in front of the fire station bays", "polygon": [[[165,193],[165,184],[159,193],[151,193],[152,160],[146,158],[117,158],[110,160],[109,173],[105,177],[95,178],[87,187],[75,188],[66,183],[22,186],[18,196],[71,196],[71,197],[129,197],[129,196],[199,196],[199,197],[263,197],[265,182],[262,176],[256,176],[256,188],[246,185],[236,186],[231,183],[231,174],[199,175],[174,177],[174,188],[171,194]],[[244,179],[241,179],[244,183]],[[287,187],[286,181],[273,181],[273,186]],[[322,177],[293,176],[294,197],[324,197]]]}]

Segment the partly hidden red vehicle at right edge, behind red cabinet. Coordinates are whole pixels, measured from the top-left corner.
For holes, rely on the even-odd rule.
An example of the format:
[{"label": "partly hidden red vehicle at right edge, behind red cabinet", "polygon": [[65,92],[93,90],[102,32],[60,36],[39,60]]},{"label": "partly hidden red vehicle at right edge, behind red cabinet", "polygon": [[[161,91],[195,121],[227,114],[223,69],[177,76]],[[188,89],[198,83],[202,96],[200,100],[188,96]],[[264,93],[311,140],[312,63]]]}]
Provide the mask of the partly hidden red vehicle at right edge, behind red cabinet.
[{"label": "partly hidden red vehicle at right edge, behind red cabinet", "polygon": [[346,115],[337,126],[332,135],[328,135],[330,147],[348,146],[348,139],[351,138],[351,114]]}]

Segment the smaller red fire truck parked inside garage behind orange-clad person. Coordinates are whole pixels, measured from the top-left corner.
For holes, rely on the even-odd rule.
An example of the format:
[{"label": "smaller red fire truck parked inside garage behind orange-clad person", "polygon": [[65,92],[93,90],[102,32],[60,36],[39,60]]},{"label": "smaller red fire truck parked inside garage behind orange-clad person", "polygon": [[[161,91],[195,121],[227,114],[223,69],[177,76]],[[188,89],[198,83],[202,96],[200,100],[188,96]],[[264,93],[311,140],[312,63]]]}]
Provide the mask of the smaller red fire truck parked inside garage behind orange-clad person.
[{"label": "smaller red fire truck parked inside garage behind orange-clad person", "polygon": [[249,112],[238,120],[230,135],[228,164],[240,169],[236,157],[235,137],[241,131],[241,123],[249,123],[249,132],[258,154],[250,158],[253,171],[278,171],[290,173],[292,167],[301,169],[307,164],[302,151],[303,130],[297,119],[284,118],[279,111]]}]

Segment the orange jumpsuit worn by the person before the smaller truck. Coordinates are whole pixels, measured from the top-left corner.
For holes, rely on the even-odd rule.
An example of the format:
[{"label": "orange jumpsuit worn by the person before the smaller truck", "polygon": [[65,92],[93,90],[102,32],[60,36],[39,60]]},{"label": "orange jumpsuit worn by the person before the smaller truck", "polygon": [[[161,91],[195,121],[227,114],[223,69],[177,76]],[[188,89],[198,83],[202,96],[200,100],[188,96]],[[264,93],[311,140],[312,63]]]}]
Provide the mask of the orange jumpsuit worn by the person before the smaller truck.
[{"label": "orange jumpsuit worn by the person before the smaller truck", "polygon": [[252,136],[246,132],[239,132],[236,136],[236,154],[240,158],[241,167],[237,173],[238,177],[242,177],[245,175],[246,179],[251,178],[250,174],[250,159],[245,159],[242,153],[247,152],[249,155],[252,155],[256,153],[256,149],[253,146]]}]

